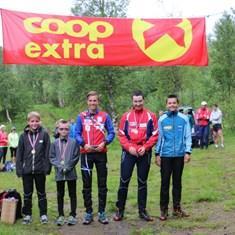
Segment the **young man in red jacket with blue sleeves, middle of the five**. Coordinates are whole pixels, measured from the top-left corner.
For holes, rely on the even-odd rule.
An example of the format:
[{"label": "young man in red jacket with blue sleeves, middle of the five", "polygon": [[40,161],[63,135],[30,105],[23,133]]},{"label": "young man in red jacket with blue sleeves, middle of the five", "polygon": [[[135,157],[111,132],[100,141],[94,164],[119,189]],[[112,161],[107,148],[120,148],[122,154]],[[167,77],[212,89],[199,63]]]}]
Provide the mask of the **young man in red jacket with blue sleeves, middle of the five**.
[{"label": "young man in red jacket with blue sleeves, middle of the five", "polygon": [[[91,199],[92,169],[95,164],[98,176],[99,222],[107,224],[105,214],[107,198],[107,145],[115,132],[110,116],[98,109],[99,95],[95,91],[87,94],[88,110],[80,113],[76,123],[76,140],[81,148],[81,170],[83,180],[83,199],[86,207],[83,224],[93,221]],[[106,134],[107,132],[107,134]]]}]

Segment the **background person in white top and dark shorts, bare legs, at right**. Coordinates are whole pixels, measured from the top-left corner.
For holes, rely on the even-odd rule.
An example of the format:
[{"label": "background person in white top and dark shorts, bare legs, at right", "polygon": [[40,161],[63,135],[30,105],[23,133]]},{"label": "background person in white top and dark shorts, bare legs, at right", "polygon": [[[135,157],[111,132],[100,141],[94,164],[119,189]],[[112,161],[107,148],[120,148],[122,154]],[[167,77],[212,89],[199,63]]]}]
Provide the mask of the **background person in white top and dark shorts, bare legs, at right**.
[{"label": "background person in white top and dark shorts, bare legs, at right", "polygon": [[210,121],[212,123],[213,129],[213,138],[215,147],[219,147],[219,139],[220,139],[220,146],[224,148],[224,136],[222,131],[222,112],[217,104],[213,105],[213,109],[210,115]]}]

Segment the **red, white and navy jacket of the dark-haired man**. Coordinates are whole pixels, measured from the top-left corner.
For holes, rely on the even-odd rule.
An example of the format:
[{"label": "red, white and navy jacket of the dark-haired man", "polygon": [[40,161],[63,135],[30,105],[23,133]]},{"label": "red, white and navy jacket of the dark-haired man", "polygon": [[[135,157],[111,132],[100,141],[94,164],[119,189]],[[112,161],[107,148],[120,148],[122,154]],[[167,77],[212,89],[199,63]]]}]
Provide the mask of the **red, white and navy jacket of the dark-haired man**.
[{"label": "red, white and navy jacket of the dark-haired man", "polygon": [[118,138],[126,151],[130,147],[138,150],[142,146],[150,150],[158,139],[156,115],[147,109],[131,109],[120,120]]}]

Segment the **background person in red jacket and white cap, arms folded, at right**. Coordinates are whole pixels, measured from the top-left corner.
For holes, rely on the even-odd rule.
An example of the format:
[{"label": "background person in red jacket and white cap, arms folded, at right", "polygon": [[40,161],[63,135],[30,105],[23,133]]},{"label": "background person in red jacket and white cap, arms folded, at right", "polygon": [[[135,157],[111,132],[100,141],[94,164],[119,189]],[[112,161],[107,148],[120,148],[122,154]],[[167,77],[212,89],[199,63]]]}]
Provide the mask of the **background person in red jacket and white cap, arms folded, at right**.
[{"label": "background person in red jacket and white cap, arms folded, at right", "polygon": [[196,124],[198,125],[200,148],[208,148],[209,141],[209,121],[210,121],[210,110],[207,108],[207,102],[202,101],[201,108],[196,112]]}]

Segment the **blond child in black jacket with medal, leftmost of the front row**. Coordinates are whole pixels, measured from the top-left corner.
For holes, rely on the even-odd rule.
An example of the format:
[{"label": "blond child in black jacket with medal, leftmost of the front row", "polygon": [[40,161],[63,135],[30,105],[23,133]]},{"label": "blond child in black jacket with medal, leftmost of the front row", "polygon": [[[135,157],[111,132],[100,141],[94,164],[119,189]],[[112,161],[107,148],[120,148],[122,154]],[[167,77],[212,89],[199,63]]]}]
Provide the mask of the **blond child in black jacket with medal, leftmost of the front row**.
[{"label": "blond child in black jacket with medal, leftmost of the front row", "polygon": [[32,194],[34,182],[37,189],[40,221],[47,219],[46,175],[50,174],[49,161],[50,137],[41,127],[38,112],[30,112],[27,116],[28,125],[19,139],[16,153],[16,174],[22,177],[24,190],[23,224],[32,222]]}]

